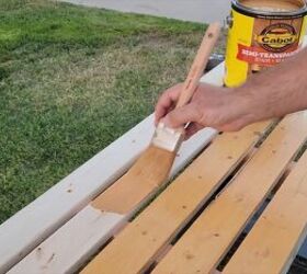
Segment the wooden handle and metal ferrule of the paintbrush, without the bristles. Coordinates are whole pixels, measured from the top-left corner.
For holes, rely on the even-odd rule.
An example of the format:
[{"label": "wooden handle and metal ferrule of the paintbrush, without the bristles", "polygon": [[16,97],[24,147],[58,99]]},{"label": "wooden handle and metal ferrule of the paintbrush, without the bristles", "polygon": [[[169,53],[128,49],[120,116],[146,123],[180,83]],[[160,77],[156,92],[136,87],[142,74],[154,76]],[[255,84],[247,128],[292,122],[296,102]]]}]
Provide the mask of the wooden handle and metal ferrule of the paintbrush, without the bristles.
[{"label": "wooden handle and metal ferrule of the paintbrush, without the bristles", "polygon": [[[184,106],[192,99],[208,62],[213,47],[219,36],[219,32],[220,26],[218,23],[213,23],[208,26],[190,72],[184,81],[175,109]],[[173,152],[179,149],[183,137],[184,127],[173,129],[166,127],[163,123],[159,123],[151,144],[158,148]]]}]

